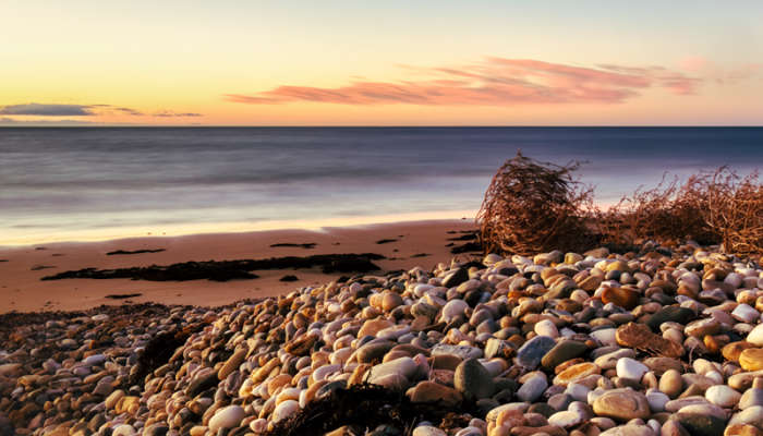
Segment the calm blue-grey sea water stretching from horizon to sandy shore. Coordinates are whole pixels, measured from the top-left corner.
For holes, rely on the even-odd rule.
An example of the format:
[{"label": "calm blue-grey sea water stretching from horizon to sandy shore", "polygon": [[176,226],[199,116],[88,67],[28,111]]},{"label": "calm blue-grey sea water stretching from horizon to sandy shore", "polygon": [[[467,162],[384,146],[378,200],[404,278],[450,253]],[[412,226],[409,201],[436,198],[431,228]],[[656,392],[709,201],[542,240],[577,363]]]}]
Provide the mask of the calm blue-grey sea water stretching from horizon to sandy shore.
[{"label": "calm blue-grey sea water stretching from horizon to sandy shore", "polygon": [[582,181],[608,203],[665,171],[760,168],[763,129],[0,129],[0,244],[136,227],[450,217],[476,210],[518,149],[585,161]]}]

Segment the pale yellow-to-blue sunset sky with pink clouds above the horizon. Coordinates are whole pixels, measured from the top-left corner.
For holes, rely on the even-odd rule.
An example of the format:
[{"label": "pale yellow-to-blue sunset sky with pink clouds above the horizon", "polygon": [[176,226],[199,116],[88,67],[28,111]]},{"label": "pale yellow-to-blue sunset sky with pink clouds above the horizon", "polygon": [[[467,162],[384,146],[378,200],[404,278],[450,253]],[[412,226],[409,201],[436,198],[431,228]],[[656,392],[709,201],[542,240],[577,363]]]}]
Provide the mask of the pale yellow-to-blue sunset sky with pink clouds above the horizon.
[{"label": "pale yellow-to-blue sunset sky with pink clouds above the horizon", "polygon": [[763,2],[0,0],[0,125],[763,125]]}]

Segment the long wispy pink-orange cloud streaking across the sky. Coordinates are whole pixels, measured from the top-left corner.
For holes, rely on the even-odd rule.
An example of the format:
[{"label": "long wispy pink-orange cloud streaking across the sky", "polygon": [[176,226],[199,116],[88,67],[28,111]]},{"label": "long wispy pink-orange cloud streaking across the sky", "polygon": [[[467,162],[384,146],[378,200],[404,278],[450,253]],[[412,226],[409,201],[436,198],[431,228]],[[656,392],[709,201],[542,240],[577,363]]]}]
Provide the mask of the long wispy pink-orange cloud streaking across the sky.
[{"label": "long wispy pink-orange cloud streaking across the sky", "polygon": [[618,104],[654,87],[676,95],[691,95],[702,83],[700,77],[662,66],[578,66],[532,59],[486,58],[462,66],[402,66],[420,78],[397,82],[355,80],[335,88],[283,85],[251,95],[227,94],[223,97],[250,105],[293,101],[425,106]]}]

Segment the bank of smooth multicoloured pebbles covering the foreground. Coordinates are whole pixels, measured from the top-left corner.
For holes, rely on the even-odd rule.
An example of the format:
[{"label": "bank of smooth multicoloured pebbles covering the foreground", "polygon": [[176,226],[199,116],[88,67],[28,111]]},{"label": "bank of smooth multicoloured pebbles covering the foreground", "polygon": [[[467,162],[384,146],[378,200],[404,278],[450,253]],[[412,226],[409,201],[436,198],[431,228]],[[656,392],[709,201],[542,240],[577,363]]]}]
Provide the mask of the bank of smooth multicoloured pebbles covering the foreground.
[{"label": "bank of smooth multicoloured pebbles covering the foreground", "polygon": [[759,258],[647,242],[10,313],[0,434],[759,435],[762,290]]}]

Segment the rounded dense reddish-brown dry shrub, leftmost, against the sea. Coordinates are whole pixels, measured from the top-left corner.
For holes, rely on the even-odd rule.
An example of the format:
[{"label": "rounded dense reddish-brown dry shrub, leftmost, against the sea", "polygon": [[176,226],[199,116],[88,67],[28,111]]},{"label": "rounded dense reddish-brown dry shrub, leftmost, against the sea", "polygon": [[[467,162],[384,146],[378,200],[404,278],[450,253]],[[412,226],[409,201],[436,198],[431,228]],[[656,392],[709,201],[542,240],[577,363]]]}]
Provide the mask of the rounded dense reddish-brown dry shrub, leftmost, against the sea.
[{"label": "rounded dense reddish-brown dry shrub, leftmost, against the sea", "polygon": [[579,167],[540,162],[521,153],[507,160],[477,213],[485,252],[528,255],[590,243],[585,217],[593,189],[572,179]]}]

